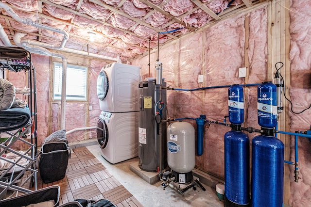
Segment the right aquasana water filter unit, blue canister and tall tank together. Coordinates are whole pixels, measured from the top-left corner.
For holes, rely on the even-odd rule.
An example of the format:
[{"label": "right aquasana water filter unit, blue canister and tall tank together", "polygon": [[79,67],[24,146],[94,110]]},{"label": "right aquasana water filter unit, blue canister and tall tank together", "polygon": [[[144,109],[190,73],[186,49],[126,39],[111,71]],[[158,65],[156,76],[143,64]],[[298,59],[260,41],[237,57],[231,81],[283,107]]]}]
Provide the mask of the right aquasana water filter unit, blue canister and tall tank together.
[{"label": "right aquasana water filter unit, blue canister and tall tank together", "polygon": [[261,135],[252,140],[252,207],[282,207],[284,144],[274,137],[277,121],[276,85],[258,87],[258,123]]}]

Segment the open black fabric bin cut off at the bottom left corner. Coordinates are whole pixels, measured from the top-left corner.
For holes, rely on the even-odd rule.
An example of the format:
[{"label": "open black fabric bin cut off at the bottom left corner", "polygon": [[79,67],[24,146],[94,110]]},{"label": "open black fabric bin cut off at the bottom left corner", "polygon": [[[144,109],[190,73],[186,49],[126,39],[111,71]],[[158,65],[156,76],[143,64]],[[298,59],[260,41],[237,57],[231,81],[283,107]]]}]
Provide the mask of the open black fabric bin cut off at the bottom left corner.
[{"label": "open black fabric bin cut off at the bottom left corner", "polygon": [[49,186],[37,191],[28,192],[17,197],[0,201],[0,207],[21,207],[54,200],[54,207],[59,206],[60,187]]}]

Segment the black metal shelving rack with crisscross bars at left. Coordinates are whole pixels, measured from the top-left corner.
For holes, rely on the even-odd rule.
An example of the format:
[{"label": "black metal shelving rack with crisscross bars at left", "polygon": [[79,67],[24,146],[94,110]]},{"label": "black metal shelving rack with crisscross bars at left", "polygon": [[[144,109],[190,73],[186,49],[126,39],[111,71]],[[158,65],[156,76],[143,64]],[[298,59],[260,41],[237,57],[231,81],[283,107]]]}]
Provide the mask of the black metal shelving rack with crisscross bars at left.
[{"label": "black metal shelving rack with crisscross bars at left", "polygon": [[[0,172],[0,178],[4,177],[4,175],[10,175],[8,182],[3,182],[0,180],[0,196],[5,193],[7,190],[11,191],[20,191],[20,192],[30,192],[30,190],[23,187],[23,185],[28,182],[29,179],[32,178],[31,184],[35,185],[36,190],[36,161],[37,161],[37,110],[36,110],[36,73],[35,67],[31,61],[31,53],[25,50],[24,48],[16,48],[16,47],[1,47],[0,46],[0,70],[2,70],[3,77],[5,77],[4,71],[10,70],[15,72],[28,72],[28,87],[30,89],[30,93],[28,95],[28,107],[31,113],[31,121],[23,127],[23,129],[17,130],[15,133],[10,131],[6,131],[10,137],[5,141],[2,140],[0,143],[0,159],[8,161],[12,163],[12,165]],[[27,137],[27,133],[30,133],[30,142],[28,142],[25,137]],[[28,135],[29,136],[29,135]],[[12,149],[11,146],[17,142],[21,141],[26,143],[26,146],[29,146],[26,151],[23,153],[17,152]],[[12,162],[9,159],[3,158],[1,155],[4,152],[12,152],[20,157],[20,159],[27,159],[28,164],[26,166],[20,165],[17,162]],[[18,160],[17,160],[18,161]],[[30,172],[27,179],[23,179],[24,181],[18,186],[16,182],[20,179],[26,171]],[[1,191],[2,189],[2,191]]]}]

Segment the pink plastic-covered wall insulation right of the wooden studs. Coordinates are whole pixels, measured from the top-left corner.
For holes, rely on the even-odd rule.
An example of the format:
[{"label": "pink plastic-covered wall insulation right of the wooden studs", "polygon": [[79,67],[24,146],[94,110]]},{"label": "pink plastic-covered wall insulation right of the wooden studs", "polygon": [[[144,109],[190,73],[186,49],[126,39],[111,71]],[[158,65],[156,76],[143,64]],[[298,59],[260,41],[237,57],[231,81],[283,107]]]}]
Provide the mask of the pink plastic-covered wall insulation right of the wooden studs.
[{"label": "pink plastic-covered wall insulation right of the wooden studs", "polygon": [[[290,34],[291,34],[291,88],[287,94],[293,103],[293,111],[300,112],[311,104],[311,4],[303,0],[291,0]],[[284,70],[280,70],[281,74]],[[288,90],[288,89],[285,89]],[[302,113],[290,114],[290,131],[306,131],[311,126],[311,109]],[[294,161],[294,136],[291,136],[291,161]],[[298,137],[299,177],[294,182],[294,166],[290,166],[290,205],[293,207],[310,206],[311,190],[311,142],[308,138]]]}]

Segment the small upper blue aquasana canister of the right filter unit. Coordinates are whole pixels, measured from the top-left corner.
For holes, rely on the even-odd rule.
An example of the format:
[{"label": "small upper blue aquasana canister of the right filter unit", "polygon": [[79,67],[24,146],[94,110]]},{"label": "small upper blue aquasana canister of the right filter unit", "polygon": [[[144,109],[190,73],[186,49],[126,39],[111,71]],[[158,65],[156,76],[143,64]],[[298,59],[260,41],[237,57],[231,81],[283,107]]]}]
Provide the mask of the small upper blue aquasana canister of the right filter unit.
[{"label": "small upper blue aquasana canister of the right filter unit", "polygon": [[276,85],[271,81],[262,82],[257,89],[258,124],[273,128],[277,122]]}]

